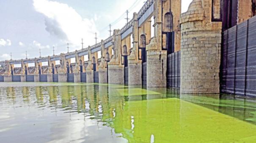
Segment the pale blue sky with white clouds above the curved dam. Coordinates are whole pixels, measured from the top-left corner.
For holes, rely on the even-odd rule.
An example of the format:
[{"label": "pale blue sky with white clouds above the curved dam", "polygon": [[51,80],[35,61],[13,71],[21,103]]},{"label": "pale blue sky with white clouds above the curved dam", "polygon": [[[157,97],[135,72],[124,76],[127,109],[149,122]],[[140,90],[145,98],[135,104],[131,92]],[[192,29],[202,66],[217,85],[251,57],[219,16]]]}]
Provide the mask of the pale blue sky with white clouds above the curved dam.
[{"label": "pale blue sky with white clouds above the curved dam", "polygon": [[[105,40],[146,0],[0,0],[0,60],[66,53]],[[182,0],[182,13],[192,0]]]}]

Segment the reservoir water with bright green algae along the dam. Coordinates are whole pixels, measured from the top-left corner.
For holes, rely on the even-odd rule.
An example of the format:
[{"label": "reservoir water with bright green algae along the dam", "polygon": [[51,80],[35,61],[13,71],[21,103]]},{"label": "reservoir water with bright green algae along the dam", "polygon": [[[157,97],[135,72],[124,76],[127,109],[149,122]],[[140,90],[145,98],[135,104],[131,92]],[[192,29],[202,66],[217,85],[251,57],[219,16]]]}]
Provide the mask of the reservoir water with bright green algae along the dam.
[{"label": "reservoir water with bright green algae along the dam", "polygon": [[3,143],[256,142],[256,100],[121,85],[0,83]]}]

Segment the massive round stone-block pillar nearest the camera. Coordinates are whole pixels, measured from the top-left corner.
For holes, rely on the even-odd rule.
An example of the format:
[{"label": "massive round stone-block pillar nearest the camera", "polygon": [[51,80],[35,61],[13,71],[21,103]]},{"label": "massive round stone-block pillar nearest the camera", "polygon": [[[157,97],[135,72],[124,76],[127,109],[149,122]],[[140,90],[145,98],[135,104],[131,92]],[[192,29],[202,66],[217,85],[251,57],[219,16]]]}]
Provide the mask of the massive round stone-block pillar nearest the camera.
[{"label": "massive round stone-block pillar nearest the camera", "polygon": [[211,20],[212,0],[193,0],[181,15],[181,93],[219,93],[221,22]]}]

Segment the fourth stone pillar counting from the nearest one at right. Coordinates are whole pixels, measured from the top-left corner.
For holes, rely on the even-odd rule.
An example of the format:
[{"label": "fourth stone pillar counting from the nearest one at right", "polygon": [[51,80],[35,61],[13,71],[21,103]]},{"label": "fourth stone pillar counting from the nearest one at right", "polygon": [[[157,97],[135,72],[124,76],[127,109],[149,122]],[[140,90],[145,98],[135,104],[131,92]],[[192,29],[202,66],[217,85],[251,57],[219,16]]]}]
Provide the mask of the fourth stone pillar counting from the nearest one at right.
[{"label": "fourth stone pillar counting from the nearest one at right", "polygon": [[113,58],[108,63],[108,83],[124,84],[124,65],[121,64],[121,30],[114,30]]}]

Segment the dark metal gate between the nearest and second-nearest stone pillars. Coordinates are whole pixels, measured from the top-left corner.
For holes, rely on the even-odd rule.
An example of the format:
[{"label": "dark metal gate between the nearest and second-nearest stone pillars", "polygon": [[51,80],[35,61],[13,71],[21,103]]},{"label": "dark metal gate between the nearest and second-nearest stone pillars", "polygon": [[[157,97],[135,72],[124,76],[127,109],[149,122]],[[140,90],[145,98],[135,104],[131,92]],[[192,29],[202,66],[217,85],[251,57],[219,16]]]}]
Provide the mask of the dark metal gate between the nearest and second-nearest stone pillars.
[{"label": "dark metal gate between the nearest and second-nearest stone pillars", "polygon": [[180,88],[180,52],[168,55],[167,64],[167,86],[173,88]]}]

